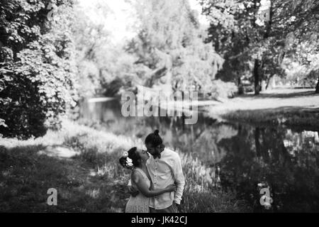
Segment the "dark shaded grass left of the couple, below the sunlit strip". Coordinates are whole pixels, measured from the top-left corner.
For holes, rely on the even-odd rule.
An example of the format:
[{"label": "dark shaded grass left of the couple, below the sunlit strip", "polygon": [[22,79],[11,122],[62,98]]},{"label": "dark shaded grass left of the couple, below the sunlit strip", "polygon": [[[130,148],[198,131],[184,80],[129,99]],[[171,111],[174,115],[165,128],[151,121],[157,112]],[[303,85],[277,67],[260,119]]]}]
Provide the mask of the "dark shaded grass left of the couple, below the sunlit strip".
[{"label": "dark shaded grass left of the couple, below the sunlit strip", "polygon": [[[38,155],[45,146],[0,147],[0,212],[123,212],[126,185],[92,175],[89,162]],[[57,206],[47,189],[57,189]]]}]

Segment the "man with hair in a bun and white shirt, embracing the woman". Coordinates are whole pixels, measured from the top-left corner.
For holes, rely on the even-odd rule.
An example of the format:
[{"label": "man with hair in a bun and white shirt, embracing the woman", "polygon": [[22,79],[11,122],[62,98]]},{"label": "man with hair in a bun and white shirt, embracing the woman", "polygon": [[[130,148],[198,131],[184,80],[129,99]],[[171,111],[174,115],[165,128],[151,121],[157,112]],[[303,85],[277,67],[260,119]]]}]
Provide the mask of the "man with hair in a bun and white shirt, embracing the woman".
[{"label": "man with hair in a bun and white shirt, embracing the woman", "polygon": [[[159,131],[155,130],[145,138],[145,146],[151,157],[146,166],[154,189],[163,189],[170,184],[176,184],[176,192],[167,192],[150,199],[150,213],[177,213],[181,204],[185,179],[181,169],[179,155],[173,150],[164,148]],[[134,194],[131,188],[131,194]]]}]

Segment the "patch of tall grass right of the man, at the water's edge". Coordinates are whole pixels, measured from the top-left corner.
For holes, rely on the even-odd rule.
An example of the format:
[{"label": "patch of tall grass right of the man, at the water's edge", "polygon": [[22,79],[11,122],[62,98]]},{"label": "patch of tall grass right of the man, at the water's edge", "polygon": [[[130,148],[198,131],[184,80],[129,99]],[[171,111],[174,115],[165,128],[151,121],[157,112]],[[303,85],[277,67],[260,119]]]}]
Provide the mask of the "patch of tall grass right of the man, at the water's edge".
[{"label": "patch of tall grass right of the man, at the water's edge", "polygon": [[186,185],[181,211],[195,213],[247,212],[245,201],[236,199],[235,192],[220,189],[215,167],[206,167],[191,154],[179,153]]}]

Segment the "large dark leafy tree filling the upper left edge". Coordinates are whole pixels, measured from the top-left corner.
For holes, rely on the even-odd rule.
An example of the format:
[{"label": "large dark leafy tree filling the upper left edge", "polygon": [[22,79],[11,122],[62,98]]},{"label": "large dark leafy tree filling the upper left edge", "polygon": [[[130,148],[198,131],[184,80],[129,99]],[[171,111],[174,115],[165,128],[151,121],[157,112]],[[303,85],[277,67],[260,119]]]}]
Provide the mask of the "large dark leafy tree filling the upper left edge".
[{"label": "large dark leafy tree filling the upper left edge", "polygon": [[[59,20],[47,21],[57,4]],[[59,126],[77,98],[69,35],[69,0],[1,1],[0,118],[5,136],[40,136]],[[18,12],[18,13],[17,13]]]}]

